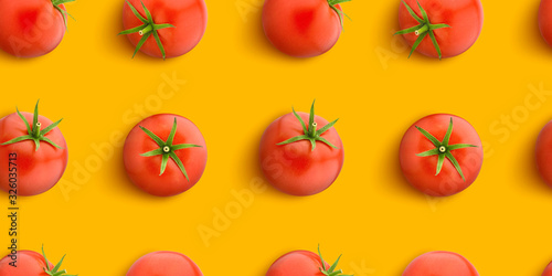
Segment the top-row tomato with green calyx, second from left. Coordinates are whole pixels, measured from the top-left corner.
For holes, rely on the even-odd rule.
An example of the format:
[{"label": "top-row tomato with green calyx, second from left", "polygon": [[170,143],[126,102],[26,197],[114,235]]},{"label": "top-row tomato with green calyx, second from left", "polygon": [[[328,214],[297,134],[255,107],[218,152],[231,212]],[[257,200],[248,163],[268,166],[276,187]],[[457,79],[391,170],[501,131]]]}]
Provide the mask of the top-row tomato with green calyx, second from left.
[{"label": "top-row tomato with green calyx, second from left", "polygon": [[128,0],[123,8],[125,31],[119,34],[127,34],[135,55],[140,50],[155,57],[176,57],[200,42],[206,21],[203,0]]}]

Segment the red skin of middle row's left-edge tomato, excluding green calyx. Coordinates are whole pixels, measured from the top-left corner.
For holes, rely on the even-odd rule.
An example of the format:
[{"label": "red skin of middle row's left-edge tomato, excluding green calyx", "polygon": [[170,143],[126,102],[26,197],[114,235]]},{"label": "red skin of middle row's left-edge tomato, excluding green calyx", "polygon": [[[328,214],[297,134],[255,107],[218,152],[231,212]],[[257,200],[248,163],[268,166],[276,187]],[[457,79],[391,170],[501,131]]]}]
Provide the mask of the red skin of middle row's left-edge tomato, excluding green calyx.
[{"label": "red skin of middle row's left-edge tomato, excluding green calyx", "polygon": [[[21,114],[26,118],[29,124],[32,124],[32,114]],[[39,121],[42,124],[41,129],[52,124],[50,119],[40,115]],[[26,127],[18,114],[8,115],[0,120],[0,144],[25,135],[28,135]],[[57,127],[47,132],[45,137],[62,147],[62,149],[41,141],[39,150],[35,151],[35,145],[32,140],[24,140],[6,146],[0,145],[0,189],[7,192],[10,190],[10,182],[7,174],[10,168],[9,155],[12,152],[18,155],[19,195],[36,195],[43,193],[60,181],[67,167],[67,144]]]}]

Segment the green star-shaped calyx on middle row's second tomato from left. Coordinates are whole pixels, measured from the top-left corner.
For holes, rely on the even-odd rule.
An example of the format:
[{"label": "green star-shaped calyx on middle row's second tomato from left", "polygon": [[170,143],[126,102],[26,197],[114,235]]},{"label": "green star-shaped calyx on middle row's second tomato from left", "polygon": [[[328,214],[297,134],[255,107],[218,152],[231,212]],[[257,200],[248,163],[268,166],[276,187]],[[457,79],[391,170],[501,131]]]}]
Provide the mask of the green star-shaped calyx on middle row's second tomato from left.
[{"label": "green star-shaped calyx on middle row's second tomato from left", "polygon": [[180,168],[185,179],[190,181],[190,179],[188,178],[188,173],[185,172],[184,164],[182,164],[182,161],[177,156],[177,153],[174,153],[174,151],[187,148],[201,148],[201,146],[192,144],[172,145],[172,141],[174,140],[174,135],[177,135],[177,117],[174,117],[174,124],[172,125],[172,129],[169,135],[169,138],[167,138],[167,141],[161,140],[161,138],[159,138],[157,135],[155,135],[149,129],[142,126],[140,126],[140,129],[144,130],[144,132],[146,132],[146,135],[148,135],[149,138],[156,141],[157,146],[159,146],[158,149],[140,155],[142,157],[162,156],[161,171],[159,176],[163,174],[164,170],[167,169],[167,163],[169,162],[169,159],[172,159],[177,163],[178,168]]}]

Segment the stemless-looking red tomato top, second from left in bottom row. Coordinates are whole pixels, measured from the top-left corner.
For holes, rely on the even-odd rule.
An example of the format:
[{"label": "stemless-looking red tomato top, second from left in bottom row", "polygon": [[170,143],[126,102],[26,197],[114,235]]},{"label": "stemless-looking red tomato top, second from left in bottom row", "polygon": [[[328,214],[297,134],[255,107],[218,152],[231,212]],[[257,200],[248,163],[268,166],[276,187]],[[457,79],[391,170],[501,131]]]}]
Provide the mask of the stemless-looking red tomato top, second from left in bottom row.
[{"label": "stemless-looking red tomato top, second from left in bottom row", "polygon": [[203,276],[192,259],[178,252],[158,251],[144,255],[127,276]]}]

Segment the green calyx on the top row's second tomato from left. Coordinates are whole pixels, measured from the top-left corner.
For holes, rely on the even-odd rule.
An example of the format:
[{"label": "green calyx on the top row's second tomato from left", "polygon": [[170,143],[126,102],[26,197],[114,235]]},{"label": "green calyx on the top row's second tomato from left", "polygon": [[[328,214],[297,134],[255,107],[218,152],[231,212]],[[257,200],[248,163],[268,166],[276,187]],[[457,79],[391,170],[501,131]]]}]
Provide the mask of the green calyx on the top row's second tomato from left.
[{"label": "green calyx on the top row's second tomato from left", "polygon": [[161,54],[162,54],[163,60],[164,60],[166,53],[164,53],[163,43],[161,43],[161,39],[159,38],[159,33],[157,31],[161,30],[161,29],[166,29],[166,28],[174,28],[174,25],[156,24],[156,22],[153,22],[153,18],[151,17],[151,13],[149,12],[148,8],[146,8],[146,6],[144,4],[142,1],[140,1],[140,2],[141,2],[141,7],[144,8],[144,12],[146,13],[146,18],[144,18],[129,1],[126,1],[126,2],[128,4],[128,7],[130,7],[130,10],[132,10],[132,13],[136,15],[136,18],[138,18],[144,23],[139,26],[128,29],[128,30],[125,30],[125,31],[119,33],[119,35],[120,34],[129,34],[129,33],[138,33],[141,35],[140,41],[136,45],[135,53],[132,54],[132,57],[135,57],[136,53],[138,53],[140,47],[148,40],[148,38],[151,36],[151,34],[153,34],[153,38],[156,39],[156,42],[157,42],[157,46],[161,51]]}]

